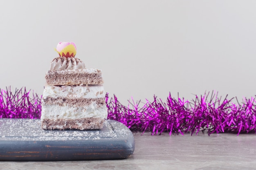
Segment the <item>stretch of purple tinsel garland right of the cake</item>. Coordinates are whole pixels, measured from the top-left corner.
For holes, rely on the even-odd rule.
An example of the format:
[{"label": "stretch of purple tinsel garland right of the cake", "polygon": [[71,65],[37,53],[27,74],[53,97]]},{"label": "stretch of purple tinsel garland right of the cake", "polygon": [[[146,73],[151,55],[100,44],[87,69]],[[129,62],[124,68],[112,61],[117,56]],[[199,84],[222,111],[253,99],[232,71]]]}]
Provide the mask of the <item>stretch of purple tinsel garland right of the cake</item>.
[{"label": "stretch of purple tinsel garland right of the cake", "polygon": [[[255,98],[245,99],[242,104],[234,104],[227,96],[222,101],[218,94],[211,93],[204,96],[196,96],[189,102],[178,97],[174,99],[171,94],[163,102],[154,96],[153,102],[147,101],[139,107],[139,103],[130,102],[132,108],[120,104],[117,97],[106,103],[108,107],[108,119],[114,119],[125,124],[132,131],[151,131],[152,135],[184,134],[199,131],[213,132],[251,133],[256,132],[256,101]],[[209,98],[209,100],[208,100]]]}]

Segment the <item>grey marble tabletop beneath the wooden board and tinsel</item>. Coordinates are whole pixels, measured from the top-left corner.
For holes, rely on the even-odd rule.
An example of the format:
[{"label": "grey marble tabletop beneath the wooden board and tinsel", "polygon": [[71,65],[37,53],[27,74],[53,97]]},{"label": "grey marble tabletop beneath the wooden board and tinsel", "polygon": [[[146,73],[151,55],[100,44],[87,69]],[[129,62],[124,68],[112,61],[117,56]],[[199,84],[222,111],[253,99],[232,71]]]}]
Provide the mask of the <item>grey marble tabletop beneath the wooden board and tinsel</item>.
[{"label": "grey marble tabletop beneath the wooden board and tinsel", "polygon": [[253,170],[256,134],[191,136],[134,133],[135,151],[128,159],[103,161],[0,161],[2,170]]}]

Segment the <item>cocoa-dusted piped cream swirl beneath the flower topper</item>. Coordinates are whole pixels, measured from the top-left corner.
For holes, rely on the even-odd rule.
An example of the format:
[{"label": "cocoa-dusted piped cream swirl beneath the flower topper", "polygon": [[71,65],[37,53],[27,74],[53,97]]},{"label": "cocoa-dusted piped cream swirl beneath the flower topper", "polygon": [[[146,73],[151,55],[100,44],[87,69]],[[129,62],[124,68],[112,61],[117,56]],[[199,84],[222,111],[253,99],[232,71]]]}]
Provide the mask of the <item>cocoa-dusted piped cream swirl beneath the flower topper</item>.
[{"label": "cocoa-dusted piped cream swirl beneath the flower topper", "polygon": [[51,62],[50,70],[76,70],[84,69],[85,64],[75,57],[56,57]]}]

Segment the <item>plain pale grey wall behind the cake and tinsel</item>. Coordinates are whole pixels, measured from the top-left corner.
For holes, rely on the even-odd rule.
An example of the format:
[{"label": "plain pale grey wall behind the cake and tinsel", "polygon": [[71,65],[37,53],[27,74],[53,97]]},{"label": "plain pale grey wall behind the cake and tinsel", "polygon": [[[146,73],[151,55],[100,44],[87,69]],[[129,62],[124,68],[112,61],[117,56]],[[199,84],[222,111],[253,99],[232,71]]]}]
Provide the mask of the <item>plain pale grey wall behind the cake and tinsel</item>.
[{"label": "plain pale grey wall behind the cake and tinsel", "polygon": [[73,41],[123,104],[213,90],[242,101],[256,94],[255,9],[255,0],[1,0],[0,88],[43,94],[56,44]]}]

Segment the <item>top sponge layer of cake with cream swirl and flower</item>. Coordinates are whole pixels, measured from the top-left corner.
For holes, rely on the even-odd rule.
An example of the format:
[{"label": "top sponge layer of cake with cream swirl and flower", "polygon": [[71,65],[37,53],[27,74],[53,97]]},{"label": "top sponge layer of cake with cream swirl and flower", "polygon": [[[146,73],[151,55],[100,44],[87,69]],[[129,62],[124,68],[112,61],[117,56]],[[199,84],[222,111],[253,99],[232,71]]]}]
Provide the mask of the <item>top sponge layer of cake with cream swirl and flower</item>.
[{"label": "top sponge layer of cake with cream swirl and flower", "polygon": [[76,55],[74,42],[59,42],[55,51],[59,57],[51,62],[50,70],[45,75],[46,85],[101,85],[101,70],[86,69],[85,64]]}]

